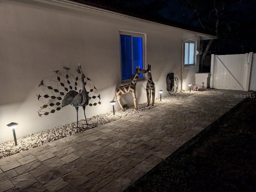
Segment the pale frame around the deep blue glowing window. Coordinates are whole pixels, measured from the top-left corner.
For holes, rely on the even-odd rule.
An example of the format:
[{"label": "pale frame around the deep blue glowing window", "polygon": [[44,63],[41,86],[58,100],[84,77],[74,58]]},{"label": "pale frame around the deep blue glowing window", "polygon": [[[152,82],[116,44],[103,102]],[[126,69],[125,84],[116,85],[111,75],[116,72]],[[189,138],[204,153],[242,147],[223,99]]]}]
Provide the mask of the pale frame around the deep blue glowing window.
[{"label": "pale frame around the deep blue glowing window", "polygon": [[[132,37],[142,37],[142,53],[143,53],[143,69],[145,69],[146,65],[146,33],[140,33],[140,32],[134,32],[134,31],[125,31],[125,30],[119,30],[119,46],[120,46],[120,72],[121,72],[121,83],[128,83],[131,82],[131,79],[122,79],[122,63],[121,63],[121,40],[120,35],[129,35]],[[146,70],[146,69],[145,69]],[[138,78],[138,81],[146,80],[145,74],[143,74],[143,77]]]}]

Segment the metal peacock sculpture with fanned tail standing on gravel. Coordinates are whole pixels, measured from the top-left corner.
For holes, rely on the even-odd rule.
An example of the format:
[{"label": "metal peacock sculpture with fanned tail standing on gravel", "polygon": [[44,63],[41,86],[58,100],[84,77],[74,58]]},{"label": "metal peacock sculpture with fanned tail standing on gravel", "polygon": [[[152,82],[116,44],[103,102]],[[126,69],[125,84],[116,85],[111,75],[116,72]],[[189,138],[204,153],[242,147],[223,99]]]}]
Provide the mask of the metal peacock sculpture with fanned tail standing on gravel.
[{"label": "metal peacock sculpture with fanned tail standing on gravel", "polygon": [[[94,85],[88,83],[90,78],[84,75],[79,63],[75,76],[70,73],[70,68],[63,67],[63,69],[66,70],[66,74],[59,70],[52,71],[56,73],[57,79],[50,80],[50,85],[46,85],[44,80],[38,85],[44,92],[42,96],[41,94],[37,95],[38,100],[44,103],[38,110],[38,115],[41,117],[42,115],[53,114],[70,104],[76,109],[76,126],[78,128],[78,108],[83,107],[86,120],[85,107],[101,104],[100,94]],[[87,120],[86,127],[88,127]]]}]

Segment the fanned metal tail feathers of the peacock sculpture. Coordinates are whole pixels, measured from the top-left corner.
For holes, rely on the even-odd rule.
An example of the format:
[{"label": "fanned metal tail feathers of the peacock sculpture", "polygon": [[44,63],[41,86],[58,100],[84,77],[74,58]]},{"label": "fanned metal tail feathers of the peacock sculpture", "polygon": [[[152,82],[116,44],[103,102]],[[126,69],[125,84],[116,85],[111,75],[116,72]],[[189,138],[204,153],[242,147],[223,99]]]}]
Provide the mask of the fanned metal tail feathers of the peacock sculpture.
[{"label": "fanned metal tail feathers of the peacock sculpture", "polygon": [[[62,71],[53,72],[56,74],[56,78],[48,82],[42,80],[39,86],[41,92],[36,94],[38,101],[43,103],[38,110],[40,117],[61,110],[70,104],[68,102],[81,91],[83,78],[80,71],[73,71],[74,74],[72,74],[70,68],[63,67]],[[84,76],[84,85],[89,96],[88,106],[96,106],[101,104],[100,94],[90,81],[90,78]]]}]

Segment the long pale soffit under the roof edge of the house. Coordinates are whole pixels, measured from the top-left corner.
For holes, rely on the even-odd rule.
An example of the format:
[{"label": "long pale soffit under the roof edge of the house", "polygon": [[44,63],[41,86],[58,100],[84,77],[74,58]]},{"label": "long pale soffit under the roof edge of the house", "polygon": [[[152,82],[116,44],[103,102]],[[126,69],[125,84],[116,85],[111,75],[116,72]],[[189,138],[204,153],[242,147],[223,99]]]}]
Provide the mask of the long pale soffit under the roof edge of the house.
[{"label": "long pale soffit under the roof edge of the house", "polygon": [[200,36],[202,38],[202,40],[217,39],[218,38],[214,35],[198,33],[198,32],[195,32],[195,31],[181,29],[181,28],[178,28],[178,27],[172,27],[170,25],[164,25],[164,24],[160,24],[160,23],[157,23],[157,22],[151,22],[151,21],[136,18],[136,17],[133,17],[133,16],[128,16],[128,15],[125,15],[125,14],[120,14],[120,13],[117,13],[117,12],[104,10],[102,8],[97,8],[97,7],[93,7],[93,6],[89,6],[89,5],[81,4],[81,3],[77,3],[77,2],[72,2],[72,1],[68,1],[68,0],[33,0],[33,1],[42,2],[42,3],[46,3],[46,4],[51,4],[51,5],[54,5],[54,6],[60,6],[60,7],[64,7],[64,8],[69,8],[69,9],[73,9],[73,10],[79,10],[79,11],[84,11],[84,10],[88,11],[89,10],[89,11],[94,12],[94,13],[98,12],[98,13],[101,13],[101,14],[107,14],[107,15],[110,15],[110,16],[117,16],[117,17],[120,17],[120,18],[135,20],[135,21],[138,21],[138,22],[143,22],[143,23],[147,23],[147,24],[151,24],[151,25],[157,25],[157,26],[166,27],[166,28],[170,28],[170,29],[176,29],[176,30],[179,30],[179,31],[184,31],[184,32],[187,32],[187,33],[196,34],[196,35]]}]

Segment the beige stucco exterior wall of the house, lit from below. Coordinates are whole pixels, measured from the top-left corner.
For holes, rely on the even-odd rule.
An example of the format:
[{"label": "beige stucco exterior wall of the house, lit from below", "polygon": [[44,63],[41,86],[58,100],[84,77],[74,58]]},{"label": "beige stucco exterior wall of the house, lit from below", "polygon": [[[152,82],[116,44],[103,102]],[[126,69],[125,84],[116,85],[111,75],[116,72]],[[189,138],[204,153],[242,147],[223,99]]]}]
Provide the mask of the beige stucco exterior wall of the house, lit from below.
[{"label": "beige stucco exterior wall of the house, lit from below", "polygon": [[[109,102],[116,86],[121,85],[119,30],[146,33],[146,63],[158,90],[166,91],[166,75],[174,72],[181,78],[182,41],[193,33],[118,17],[93,10],[61,7],[32,0],[0,2],[0,143],[13,140],[6,126],[16,122],[16,137],[76,121],[71,106],[39,117],[36,94],[41,80],[55,78],[53,70],[68,66],[83,72],[102,97],[101,105],[86,107],[86,117],[112,111]],[[198,40],[199,37],[194,40]],[[198,66],[198,65],[197,65]],[[198,67],[183,71],[183,89],[195,82]],[[137,83],[137,102],[146,102],[146,80]],[[180,88],[180,83],[179,83]],[[132,104],[132,95],[121,97],[122,104]],[[115,106],[120,108],[118,104]],[[82,109],[79,120],[84,119]]]}]

